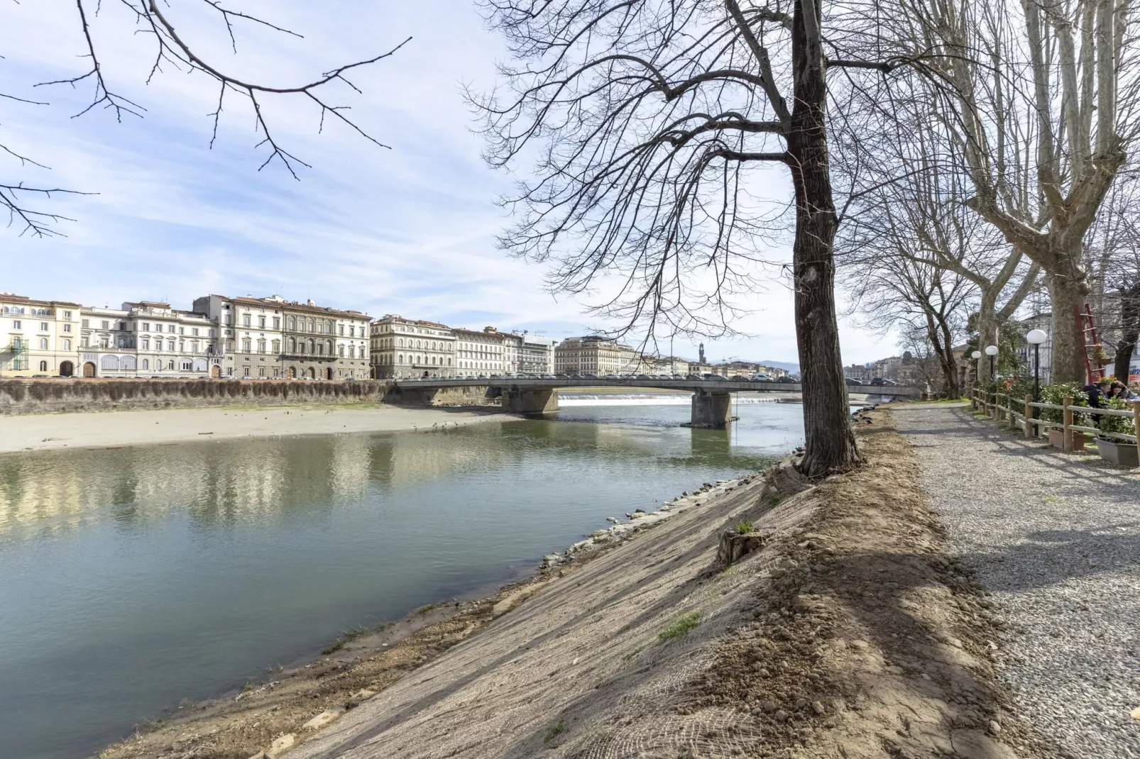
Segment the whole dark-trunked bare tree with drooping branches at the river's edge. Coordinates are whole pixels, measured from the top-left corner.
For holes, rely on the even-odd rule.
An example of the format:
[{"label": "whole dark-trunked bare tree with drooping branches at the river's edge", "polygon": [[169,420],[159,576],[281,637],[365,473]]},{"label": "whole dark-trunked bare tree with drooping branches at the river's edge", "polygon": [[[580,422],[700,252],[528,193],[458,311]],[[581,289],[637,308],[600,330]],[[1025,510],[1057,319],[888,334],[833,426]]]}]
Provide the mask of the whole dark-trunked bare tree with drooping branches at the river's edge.
[{"label": "whole dark-trunked bare tree with drooping branches at the river's edge", "polygon": [[535,162],[506,201],[518,223],[504,246],[549,262],[562,292],[616,275],[620,292],[601,310],[646,332],[661,320],[690,333],[723,326],[748,288],[762,226],[750,170],[787,166],[809,476],[858,458],[836,323],[825,74],[889,67],[828,60],[821,5],[482,0],[514,62],[503,91],[475,99],[489,162]]}]

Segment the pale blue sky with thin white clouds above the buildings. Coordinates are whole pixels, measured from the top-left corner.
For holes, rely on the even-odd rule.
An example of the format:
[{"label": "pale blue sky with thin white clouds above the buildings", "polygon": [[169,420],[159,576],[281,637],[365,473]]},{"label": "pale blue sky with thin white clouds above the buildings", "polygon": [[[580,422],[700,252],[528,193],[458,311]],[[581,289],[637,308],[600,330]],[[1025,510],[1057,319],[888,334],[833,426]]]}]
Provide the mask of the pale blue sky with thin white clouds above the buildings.
[{"label": "pale blue sky with thin white clouds above the buildings", "polygon": [[[489,169],[464,85],[496,83],[505,58],[471,0],[233,0],[227,7],[298,31],[303,39],[237,24],[237,54],[225,26],[198,0],[166,11],[206,59],[246,80],[307,82],[412,38],[398,52],[351,77],[361,90],[328,91],[377,147],[344,125],[321,128],[302,97],[267,98],[275,138],[311,168],[298,179],[268,157],[246,104],[231,97],[211,147],[218,91],[201,74],[166,68],[147,76],[154,44],[124,3],[103,2],[91,32],[109,89],[140,106],[121,121],[106,108],[76,116],[90,82],[34,87],[87,71],[72,0],[6,3],[0,11],[0,183],[60,187],[89,195],[32,199],[66,215],[58,237],[0,228],[0,291],[89,305],[160,300],[189,308],[198,295],[280,294],[374,317],[399,313],[453,326],[545,334],[554,338],[612,328],[588,301],[544,286],[545,270],[508,258],[495,236],[510,223],[495,198],[514,177]],[[145,111],[142,111],[145,108]],[[520,166],[519,171],[526,171]],[[762,181],[787,196],[785,178]],[[771,258],[787,258],[787,250]],[[796,361],[791,294],[772,281],[738,305],[741,336],[707,341],[712,360]],[[845,364],[896,353],[879,336],[840,319]],[[695,358],[695,340],[675,353]],[[662,345],[667,350],[667,345]]]}]

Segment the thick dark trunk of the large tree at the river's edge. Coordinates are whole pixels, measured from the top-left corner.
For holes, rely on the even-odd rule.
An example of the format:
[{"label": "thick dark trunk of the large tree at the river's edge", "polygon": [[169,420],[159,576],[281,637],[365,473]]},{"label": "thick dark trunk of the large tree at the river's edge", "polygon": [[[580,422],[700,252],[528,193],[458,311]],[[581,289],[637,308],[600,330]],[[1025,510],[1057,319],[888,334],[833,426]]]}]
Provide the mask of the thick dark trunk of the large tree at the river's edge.
[{"label": "thick dark trunk of the large tree at the river's edge", "polygon": [[[805,5],[814,24],[805,18]],[[817,1],[796,0],[791,33],[795,107],[788,134],[788,164],[796,189],[792,275],[806,438],[799,468],[809,478],[842,472],[858,463],[836,320],[837,220],[828,171],[819,8]]]}]

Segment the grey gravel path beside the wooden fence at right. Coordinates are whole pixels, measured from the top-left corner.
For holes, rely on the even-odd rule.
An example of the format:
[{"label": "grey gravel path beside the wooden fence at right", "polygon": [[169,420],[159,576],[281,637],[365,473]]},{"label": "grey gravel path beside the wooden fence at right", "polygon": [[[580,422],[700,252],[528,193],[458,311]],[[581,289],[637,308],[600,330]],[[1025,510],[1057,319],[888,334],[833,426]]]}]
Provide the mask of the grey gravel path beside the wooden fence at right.
[{"label": "grey gravel path beside the wooden fence at right", "polygon": [[1010,626],[1001,675],[1076,759],[1140,759],[1140,472],[969,407],[894,409],[954,548]]}]

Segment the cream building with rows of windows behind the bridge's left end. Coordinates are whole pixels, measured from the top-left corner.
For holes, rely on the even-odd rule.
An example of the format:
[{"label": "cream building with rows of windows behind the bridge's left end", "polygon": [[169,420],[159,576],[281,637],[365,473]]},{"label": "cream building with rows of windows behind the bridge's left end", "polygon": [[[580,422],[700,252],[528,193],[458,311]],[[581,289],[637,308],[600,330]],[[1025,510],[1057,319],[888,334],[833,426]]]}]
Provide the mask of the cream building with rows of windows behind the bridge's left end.
[{"label": "cream building with rows of windows behind the bridge's left end", "polygon": [[389,313],[372,323],[370,342],[377,378],[456,376],[456,337],[447,325]]}]

